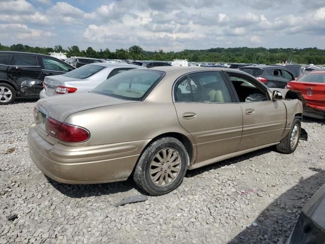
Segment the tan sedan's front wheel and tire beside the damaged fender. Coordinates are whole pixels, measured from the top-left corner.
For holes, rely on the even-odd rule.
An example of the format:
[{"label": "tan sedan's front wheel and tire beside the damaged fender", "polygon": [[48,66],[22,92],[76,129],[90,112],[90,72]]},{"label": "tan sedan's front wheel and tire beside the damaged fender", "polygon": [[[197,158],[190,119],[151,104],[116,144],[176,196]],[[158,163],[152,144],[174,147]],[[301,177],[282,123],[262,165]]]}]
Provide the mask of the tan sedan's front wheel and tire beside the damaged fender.
[{"label": "tan sedan's front wheel and tire beside the damaged fender", "polygon": [[301,133],[301,120],[295,118],[289,133],[276,145],[276,149],[284,154],[293,153],[299,143]]}]

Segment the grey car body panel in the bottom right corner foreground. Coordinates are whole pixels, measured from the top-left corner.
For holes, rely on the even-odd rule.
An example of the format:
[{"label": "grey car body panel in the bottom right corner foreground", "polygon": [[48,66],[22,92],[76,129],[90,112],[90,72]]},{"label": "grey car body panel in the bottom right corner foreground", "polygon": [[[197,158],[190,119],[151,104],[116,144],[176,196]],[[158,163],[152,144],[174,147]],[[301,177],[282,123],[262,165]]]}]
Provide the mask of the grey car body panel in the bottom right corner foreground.
[{"label": "grey car body panel in the bottom right corner foreground", "polygon": [[325,230],[325,185],[310,198],[302,211],[316,225]]}]

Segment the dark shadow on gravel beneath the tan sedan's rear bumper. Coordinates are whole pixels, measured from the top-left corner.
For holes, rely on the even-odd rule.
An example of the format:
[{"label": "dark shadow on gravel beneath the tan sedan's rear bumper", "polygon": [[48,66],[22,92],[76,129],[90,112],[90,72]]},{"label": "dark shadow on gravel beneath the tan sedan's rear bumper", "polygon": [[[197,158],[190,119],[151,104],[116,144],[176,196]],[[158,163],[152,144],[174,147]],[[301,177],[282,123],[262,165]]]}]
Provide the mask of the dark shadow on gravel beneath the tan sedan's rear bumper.
[{"label": "dark shadow on gravel beneath the tan sedan's rear bumper", "polygon": [[113,182],[113,183],[105,183],[105,184],[68,185],[68,184],[61,184],[59,182],[56,182],[55,180],[47,176],[46,178],[56,190],[72,198],[111,195],[111,194],[127,192],[129,190],[135,189],[135,184],[130,179],[122,182]]}]

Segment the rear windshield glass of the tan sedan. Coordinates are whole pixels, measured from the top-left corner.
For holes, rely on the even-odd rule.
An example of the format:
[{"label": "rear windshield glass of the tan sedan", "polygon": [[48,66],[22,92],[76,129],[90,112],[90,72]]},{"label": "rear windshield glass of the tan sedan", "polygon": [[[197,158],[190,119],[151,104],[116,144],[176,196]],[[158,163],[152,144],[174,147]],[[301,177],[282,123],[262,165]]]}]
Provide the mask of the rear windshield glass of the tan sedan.
[{"label": "rear windshield glass of the tan sedan", "polygon": [[92,93],[141,101],[164,74],[154,70],[124,71],[95,87]]}]

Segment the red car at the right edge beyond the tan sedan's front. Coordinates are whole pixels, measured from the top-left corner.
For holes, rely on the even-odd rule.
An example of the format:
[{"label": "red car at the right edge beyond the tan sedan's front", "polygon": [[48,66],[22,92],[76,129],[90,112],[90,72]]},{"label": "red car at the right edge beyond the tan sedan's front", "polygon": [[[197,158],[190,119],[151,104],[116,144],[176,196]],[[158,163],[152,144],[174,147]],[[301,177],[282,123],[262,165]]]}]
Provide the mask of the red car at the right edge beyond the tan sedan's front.
[{"label": "red car at the right edge beyond the tan sedan's front", "polygon": [[307,101],[304,115],[325,119],[325,70],[307,73],[288,82],[286,88],[302,93]]}]

